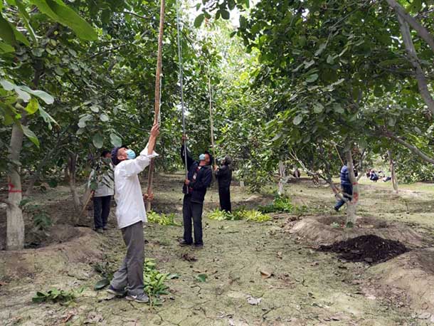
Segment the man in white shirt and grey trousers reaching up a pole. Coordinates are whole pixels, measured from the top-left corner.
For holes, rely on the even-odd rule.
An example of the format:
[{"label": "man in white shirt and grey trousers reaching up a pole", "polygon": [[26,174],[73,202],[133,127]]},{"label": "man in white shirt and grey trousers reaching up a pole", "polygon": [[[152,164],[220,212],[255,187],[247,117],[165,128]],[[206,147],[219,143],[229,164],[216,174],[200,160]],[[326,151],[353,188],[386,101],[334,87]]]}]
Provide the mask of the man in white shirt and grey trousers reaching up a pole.
[{"label": "man in white shirt and grey trousers reaching up a pole", "polygon": [[117,296],[127,295],[127,300],[147,303],[144,293],[143,264],[144,236],[143,223],[147,222],[144,209],[142,187],[137,174],[157,157],[154,152],[155,141],[159,135],[159,125],[152,127],[147,147],[138,157],[131,149],[118,147],[112,150],[112,162],[115,164],[115,200],[117,225],[122,231],[127,255],[121,267],[115,273],[108,292]]}]

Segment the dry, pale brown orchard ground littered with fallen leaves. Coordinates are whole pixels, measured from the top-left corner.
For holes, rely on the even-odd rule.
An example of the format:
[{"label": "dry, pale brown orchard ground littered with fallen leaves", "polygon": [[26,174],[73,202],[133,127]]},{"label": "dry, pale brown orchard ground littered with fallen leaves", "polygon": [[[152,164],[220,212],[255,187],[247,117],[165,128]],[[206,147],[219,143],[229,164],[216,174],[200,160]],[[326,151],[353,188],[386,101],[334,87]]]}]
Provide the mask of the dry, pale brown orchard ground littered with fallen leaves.
[{"label": "dry, pale brown orchard ground littered with fallen leaves", "polygon": [[[180,216],[182,179],[181,174],[159,175],[154,186],[155,211]],[[361,184],[359,216],[415,231],[424,240],[422,247],[434,240],[433,184],[400,185],[399,195],[393,194],[390,183],[361,179]],[[262,194],[249,194],[235,185],[233,206],[269,204],[275,189],[268,186]],[[201,251],[178,246],[181,227],[147,224],[146,256],[156,259],[159,270],[179,274],[167,281],[170,294],[159,306],[130,303],[93,290],[101,278],[93,266],[108,261],[116,268],[124,255],[113,214],[103,235],[86,227],[73,228],[67,187],[36,194],[34,202],[51,214],[55,226],[42,241],[46,246],[0,252],[0,325],[434,325],[433,306],[423,301],[429,291],[434,293],[434,285],[425,288],[416,302],[404,283],[397,282],[400,288],[382,279],[397,269],[391,262],[411,263],[409,253],[369,265],[315,250],[315,244],[292,233],[292,227],[322,216],[338,221],[344,209],[335,213],[329,187],[314,186],[308,179],[290,182],[285,189],[299,207],[297,213],[275,214],[263,224],[205,218]],[[218,194],[212,189],[205,210],[217,206]],[[4,230],[4,209],[0,214]],[[90,226],[90,217],[80,224]],[[3,246],[6,232],[1,232]],[[32,246],[38,245],[34,238],[27,239],[33,241]],[[425,250],[420,255],[432,262],[429,249],[413,248],[411,243],[409,247],[415,252]],[[434,274],[425,272],[415,275],[413,283]],[[196,278],[201,273],[208,275],[206,282]],[[31,303],[36,291],[82,286],[83,295],[70,305]]]}]

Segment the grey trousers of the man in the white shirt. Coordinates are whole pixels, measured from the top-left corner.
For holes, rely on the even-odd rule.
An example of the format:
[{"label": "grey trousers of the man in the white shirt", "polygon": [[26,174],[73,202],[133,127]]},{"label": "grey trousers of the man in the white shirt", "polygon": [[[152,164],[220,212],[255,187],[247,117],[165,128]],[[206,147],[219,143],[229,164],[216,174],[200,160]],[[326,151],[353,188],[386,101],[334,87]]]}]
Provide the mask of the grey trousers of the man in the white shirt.
[{"label": "grey trousers of the man in the white shirt", "polygon": [[128,295],[143,293],[144,236],[142,221],[121,228],[127,256],[119,270],[113,275],[112,287],[116,290],[127,290]]}]

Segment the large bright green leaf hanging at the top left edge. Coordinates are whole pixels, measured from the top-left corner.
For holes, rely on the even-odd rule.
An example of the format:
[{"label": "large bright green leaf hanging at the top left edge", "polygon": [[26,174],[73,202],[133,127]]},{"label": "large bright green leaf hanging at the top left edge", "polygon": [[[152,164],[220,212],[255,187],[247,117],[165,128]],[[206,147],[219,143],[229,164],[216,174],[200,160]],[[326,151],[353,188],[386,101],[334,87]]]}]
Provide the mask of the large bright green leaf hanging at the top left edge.
[{"label": "large bright green leaf hanging at the top left edge", "polygon": [[71,28],[79,38],[94,41],[97,39],[96,31],[90,24],[82,19],[73,9],[63,4],[61,0],[31,0],[38,9],[54,21]]}]

